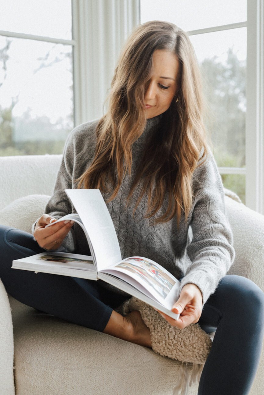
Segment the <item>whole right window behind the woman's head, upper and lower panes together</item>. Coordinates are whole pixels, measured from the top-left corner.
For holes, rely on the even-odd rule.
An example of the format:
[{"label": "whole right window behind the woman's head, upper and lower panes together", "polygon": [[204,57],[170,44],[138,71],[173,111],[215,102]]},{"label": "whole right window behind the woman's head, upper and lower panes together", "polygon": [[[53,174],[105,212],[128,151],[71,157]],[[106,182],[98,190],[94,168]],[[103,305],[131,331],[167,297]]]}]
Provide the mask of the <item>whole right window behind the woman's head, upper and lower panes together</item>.
[{"label": "whole right window behind the woman's head, upper and lower panes together", "polygon": [[245,202],[246,0],[141,0],[141,23],[163,19],[188,31],[207,98],[206,126],[222,180]]}]

